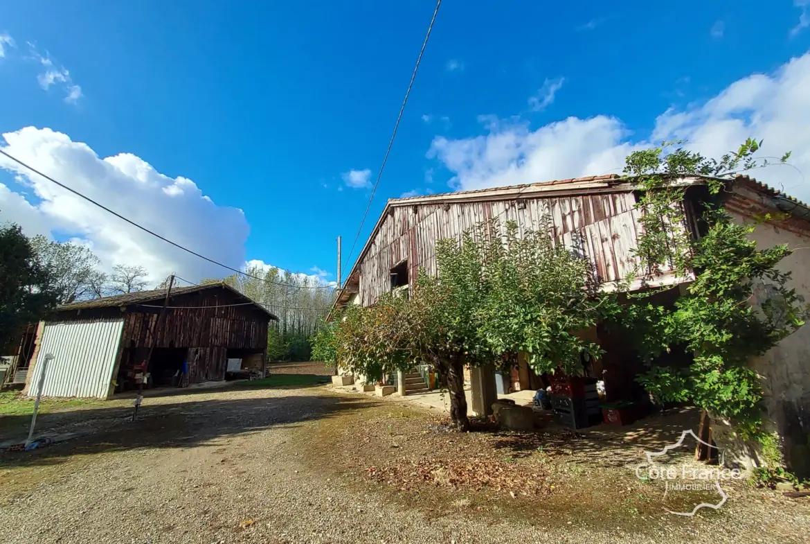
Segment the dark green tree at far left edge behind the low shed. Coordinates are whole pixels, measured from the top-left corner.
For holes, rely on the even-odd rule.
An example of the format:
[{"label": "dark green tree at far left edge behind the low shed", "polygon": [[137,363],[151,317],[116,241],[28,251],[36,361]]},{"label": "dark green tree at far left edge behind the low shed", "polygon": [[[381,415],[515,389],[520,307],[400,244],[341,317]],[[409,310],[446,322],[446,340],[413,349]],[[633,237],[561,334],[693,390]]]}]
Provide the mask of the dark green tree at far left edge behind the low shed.
[{"label": "dark green tree at far left edge behind the low shed", "polygon": [[0,345],[43,319],[59,295],[19,225],[0,227]]}]

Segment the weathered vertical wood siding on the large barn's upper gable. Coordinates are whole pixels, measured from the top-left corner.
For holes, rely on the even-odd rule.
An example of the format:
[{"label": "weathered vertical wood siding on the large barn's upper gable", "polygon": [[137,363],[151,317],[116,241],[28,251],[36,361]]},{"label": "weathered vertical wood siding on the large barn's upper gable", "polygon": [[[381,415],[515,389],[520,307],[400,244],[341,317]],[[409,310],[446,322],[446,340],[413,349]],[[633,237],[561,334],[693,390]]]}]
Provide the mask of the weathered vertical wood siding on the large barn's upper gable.
[{"label": "weathered vertical wood siding on the large barn's upper gable", "polygon": [[[404,203],[403,203],[404,204]],[[552,222],[553,236],[590,260],[603,285],[624,279],[636,267],[632,249],[637,245],[638,214],[633,193],[601,192],[580,195],[526,196],[488,201],[397,204],[383,218],[368,251],[360,259],[360,303],[373,304],[390,291],[390,269],[408,261],[408,280],[423,269],[436,273],[436,242],[460,238],[467,229],[495,217],[505,230],[516,221],[519,232],[539,229],[544,217]],[[658,285],[671,283],[663,270]]]}]

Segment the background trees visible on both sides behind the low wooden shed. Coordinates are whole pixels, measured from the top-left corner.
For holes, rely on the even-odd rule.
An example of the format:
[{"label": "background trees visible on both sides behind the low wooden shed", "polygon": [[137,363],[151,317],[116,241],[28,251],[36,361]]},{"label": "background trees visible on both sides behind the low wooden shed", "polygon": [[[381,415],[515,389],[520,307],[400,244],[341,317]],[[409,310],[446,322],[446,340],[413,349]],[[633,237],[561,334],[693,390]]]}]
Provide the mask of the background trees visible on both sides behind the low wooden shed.
[{"label": "background trees visible on both sides behind the low wooden shed", "polygon": [[[151,289],[149,272],[142,266],[117,265],[112,272],[102,272],[100,259],[89,247],[53,242],[44,236],[28,237],[19,225],[0,225],[0,255],[4,288],[0,293],[0,345],[19,326],[38,321],[54,306]],[[263,281],[233,274],[200,284],[224,281],[279,316],[268,332],[269,361],[309,361],[311,339],[330,309],[335,289],[316,276],[279,268],[250,267],[245,272]],[[168,278],[157,288],[167,285]]]}]

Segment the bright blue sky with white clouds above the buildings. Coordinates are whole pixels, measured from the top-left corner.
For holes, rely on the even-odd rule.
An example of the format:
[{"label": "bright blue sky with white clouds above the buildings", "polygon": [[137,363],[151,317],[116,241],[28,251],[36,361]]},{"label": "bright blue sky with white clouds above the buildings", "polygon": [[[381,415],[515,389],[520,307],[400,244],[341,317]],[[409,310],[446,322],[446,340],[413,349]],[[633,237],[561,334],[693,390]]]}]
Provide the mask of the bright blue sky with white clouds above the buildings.
[{"label": "bright blue sky with white clouds above the buildings", "polygon": [[[714,152],[775,132],[786,104],[804,119],[810,4],[772,4],[445,0],[358,245],[388,198],[605,173],[653,135]],[[230,265],[334,280],[335,238],[347,252],[433,6],[6,2],[0,131],[39,131],[0,143]],[[778,143],[801,161],[799,132]],[[144,163],[154,191],[133,181]],[[87,242],[109,266],[216,273],[0,166],[0,220]]]}]

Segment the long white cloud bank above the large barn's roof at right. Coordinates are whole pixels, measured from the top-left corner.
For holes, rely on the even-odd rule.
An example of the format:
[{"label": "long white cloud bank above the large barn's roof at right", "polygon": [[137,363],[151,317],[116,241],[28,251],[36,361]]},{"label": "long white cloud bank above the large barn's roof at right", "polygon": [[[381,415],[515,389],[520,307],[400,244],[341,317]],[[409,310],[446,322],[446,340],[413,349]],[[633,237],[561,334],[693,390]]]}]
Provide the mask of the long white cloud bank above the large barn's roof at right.
[{"label": "long white cloud bank above the large barn's roof at right", "polygon": [[[655,119],[650,139],[630,139],[617,118],[567,118],[532,130],[527,122],[490,122],[488,134],[433,139],[428,157],[454,173],[460,190],[620,173],[633,149],[662,139],[689,140],[706,156],[722,156],[748,137],[764,139],[762,156],[792,151],[791,168],[771,165],[752,172],[762,182],[810,201],[810,53],[770,75],[754,74],[709,101],[668,109]],[[803,179],[799,169],[807,179]]]}]

